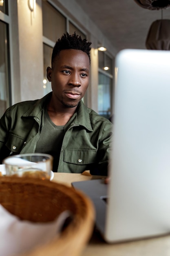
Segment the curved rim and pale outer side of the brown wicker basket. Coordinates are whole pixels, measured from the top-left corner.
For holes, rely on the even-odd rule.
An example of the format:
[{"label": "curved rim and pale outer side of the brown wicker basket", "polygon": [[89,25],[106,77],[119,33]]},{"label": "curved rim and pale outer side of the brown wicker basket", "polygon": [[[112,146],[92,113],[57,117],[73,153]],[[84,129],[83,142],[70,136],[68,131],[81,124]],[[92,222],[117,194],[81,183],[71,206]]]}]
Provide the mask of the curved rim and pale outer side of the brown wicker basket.
[{"label": "curved rim and pale outer side of the brown wicker basket", "polygon": [[[24,254],[24,256],[78,256],[79,253],[82,252],[82,249],[90,239],[93,232],[95,211],[91,200],[81,191],[75,190],[73,187],[49,180],[42,181],[33,178],[0,177],[0,189],[4,183],[11,184],[13,182],[18,184],[34,184],[38,186],[44,186],[46,188],[55,188],[56,191],[60,190],[63,193],[66,193],[66,195],[70,196],[75,201],[76,198],[78,198],[78,200],[80,200],[85,205],[84,214],[80,215],[79,213],[81,211],[79,211],[77,216],[75,216],[68,227],[64,229],[59,238],[55,238],[47,245],[33,249],[33,251]],[[81,207],[81,205],[78,207]]]}]

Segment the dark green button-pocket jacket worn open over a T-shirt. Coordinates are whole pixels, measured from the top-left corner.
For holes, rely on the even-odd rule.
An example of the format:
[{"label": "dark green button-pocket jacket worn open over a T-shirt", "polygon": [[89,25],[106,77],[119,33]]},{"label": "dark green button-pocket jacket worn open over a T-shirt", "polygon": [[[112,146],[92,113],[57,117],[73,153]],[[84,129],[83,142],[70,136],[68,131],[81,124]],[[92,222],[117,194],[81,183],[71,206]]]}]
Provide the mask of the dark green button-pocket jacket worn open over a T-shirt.
[{"label": "dark green button-pocket jacket worn open over a T-shirt", "polygon": [[[44,106],[51,93],[42,99],[17,103],[0,119],[0,163],[9,155],[34,153],[44,120]],[[86,108],[82,101],[68,126],[60,152],[58,172],[107,175],[112,123]]]}]

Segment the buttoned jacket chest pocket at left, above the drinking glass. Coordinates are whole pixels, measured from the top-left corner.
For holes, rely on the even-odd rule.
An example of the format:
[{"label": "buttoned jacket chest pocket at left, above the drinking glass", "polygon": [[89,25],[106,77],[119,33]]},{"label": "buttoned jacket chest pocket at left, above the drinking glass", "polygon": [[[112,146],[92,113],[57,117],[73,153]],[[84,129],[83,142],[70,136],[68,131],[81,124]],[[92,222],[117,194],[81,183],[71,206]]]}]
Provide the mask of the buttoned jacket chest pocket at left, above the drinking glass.
[{"label": "buttoned jacket chest pocket at left, above the drinking glass", "polygon": [[24,139],[14,134],[9,134],[6,146],[13,153],[20,153],[22,147],[24,146]]}]

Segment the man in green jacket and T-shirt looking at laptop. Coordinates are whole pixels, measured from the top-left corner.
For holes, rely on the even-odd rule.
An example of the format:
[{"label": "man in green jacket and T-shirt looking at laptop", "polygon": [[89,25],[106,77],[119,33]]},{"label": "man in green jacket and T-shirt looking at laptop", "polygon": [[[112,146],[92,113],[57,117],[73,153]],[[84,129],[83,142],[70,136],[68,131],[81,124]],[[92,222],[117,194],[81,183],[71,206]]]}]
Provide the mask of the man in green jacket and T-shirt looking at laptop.
[{"label": "man in green jacket and T-shirt looking at laptop", "polygon": [[107,175],[110,121],[86,108],[91,43],[64,34],[47,67],[52,92],[11,106],[0,119],[0,162],[19,153],[53,155],[53,171]]}]

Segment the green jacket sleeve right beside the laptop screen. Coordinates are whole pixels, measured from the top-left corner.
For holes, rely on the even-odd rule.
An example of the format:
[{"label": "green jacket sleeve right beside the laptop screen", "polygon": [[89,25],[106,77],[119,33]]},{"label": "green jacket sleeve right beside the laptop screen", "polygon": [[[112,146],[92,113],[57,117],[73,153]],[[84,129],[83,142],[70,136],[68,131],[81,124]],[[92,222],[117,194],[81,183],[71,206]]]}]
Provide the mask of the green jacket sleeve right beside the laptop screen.
[{"label": "green jacket sleeve right beside the laptop screen", "polygon": [[92,175],[108,175],[108,165],[113,137],[113,124],[107,121],[102,130],[102,138],[97,150],[98,164],[90,170]]}]

